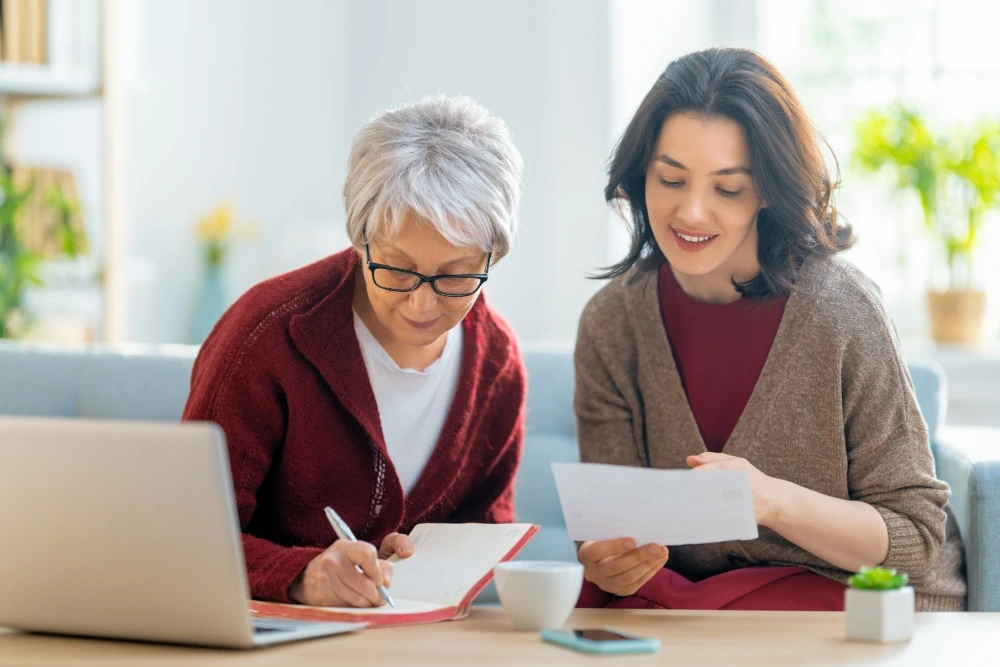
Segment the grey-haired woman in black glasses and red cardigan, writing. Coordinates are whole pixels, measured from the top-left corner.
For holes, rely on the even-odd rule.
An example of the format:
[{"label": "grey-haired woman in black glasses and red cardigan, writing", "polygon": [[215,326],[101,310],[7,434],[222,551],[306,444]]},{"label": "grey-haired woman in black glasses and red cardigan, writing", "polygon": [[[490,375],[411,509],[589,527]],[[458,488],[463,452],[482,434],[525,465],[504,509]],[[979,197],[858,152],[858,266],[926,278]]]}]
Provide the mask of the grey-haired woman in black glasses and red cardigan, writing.
[{"label": "grey-haired woman in black glasses and red cardigan, writing", "polygon": [[352,247],[255,286],[208,337],[184,418],[226,433],[254,597],[380,605],[415,524],[513,520],[524,367],[481,287],[521,171],[468,98],[382,114],[351,150]]}]

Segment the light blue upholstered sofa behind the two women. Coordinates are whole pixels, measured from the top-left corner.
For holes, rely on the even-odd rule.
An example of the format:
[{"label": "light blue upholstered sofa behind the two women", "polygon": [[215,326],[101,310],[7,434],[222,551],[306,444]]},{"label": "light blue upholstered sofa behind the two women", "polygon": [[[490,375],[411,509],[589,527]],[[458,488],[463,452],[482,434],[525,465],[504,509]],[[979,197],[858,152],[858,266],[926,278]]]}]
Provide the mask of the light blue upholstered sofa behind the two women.
[{"label": "light blue upholstered sofa behind the two women", "polygon": [[[65,348],[0,341],[0,414],[175,421],[196,354],[197,348],[182,345]],[[516,505],[518,520],[542,529],[518,557],[572,560],[574,546],[550,466],[579,460],[572,350],[528,345],[524,355],[528,430]],[[949,441],[941,428],[943,373],[932,363],[911,361],[910,374],[932,434],[938,476],[951,485],[950,504],[966,548],[969,608],[1000,611],[1000,444],[994,452]],[[494,595],[484,591],[477,602]]]}]

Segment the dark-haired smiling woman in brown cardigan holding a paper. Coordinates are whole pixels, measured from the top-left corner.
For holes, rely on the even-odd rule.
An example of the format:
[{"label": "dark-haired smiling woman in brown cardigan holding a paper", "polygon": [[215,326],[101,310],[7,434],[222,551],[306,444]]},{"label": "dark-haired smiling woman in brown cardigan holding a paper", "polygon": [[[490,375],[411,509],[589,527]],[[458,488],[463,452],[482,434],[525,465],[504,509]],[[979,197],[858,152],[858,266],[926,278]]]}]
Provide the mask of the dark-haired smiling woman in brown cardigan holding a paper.
[{"label": "dark-haired smiling woman in brown cardigan holding a paper", "polygon": [[849,572],[881,564],[919,609],[963,608],[948,487],[878,288],[837,257],[854,239],[835,183],[752,51],[679,58],[640,105],[605,190],[631,251],[577,340],[582,458],[746,471],[760,537],[585,543],[589,603],[834,610]]}]

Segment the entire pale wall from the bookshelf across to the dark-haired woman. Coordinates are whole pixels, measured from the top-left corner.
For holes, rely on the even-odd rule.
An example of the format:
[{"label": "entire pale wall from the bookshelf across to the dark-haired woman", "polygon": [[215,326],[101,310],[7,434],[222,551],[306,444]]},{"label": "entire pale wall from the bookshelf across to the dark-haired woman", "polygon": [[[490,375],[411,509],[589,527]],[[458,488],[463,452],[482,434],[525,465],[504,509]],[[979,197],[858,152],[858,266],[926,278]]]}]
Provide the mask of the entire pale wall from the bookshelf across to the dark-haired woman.
[{"label": "entire pale wall from the bookshelf across to the dark-haired woman", "polygon": [[191,225],[219,199],[261,236],[232,294],[346,245],[358,127],[426,94],[503,117],[524,155],[522,235],[488,295],[527,340],[571,340],[606,261],[607,0],[145,2],[126,104],[127,338],[185,337]]}]

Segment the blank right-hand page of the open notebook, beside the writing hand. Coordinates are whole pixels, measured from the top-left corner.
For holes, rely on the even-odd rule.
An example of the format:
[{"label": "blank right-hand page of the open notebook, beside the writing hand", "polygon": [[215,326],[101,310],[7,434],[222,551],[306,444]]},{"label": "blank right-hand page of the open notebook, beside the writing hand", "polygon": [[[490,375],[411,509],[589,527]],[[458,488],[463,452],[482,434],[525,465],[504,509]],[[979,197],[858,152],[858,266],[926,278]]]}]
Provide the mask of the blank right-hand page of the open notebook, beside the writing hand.
[{"label": "blank right-hand page of the open notebook, beside the writing hand", "polygon": [[424,523],[413,529],[413,555],[390,560],[390,594],[457,606],[531,530],[530,523]]}]

